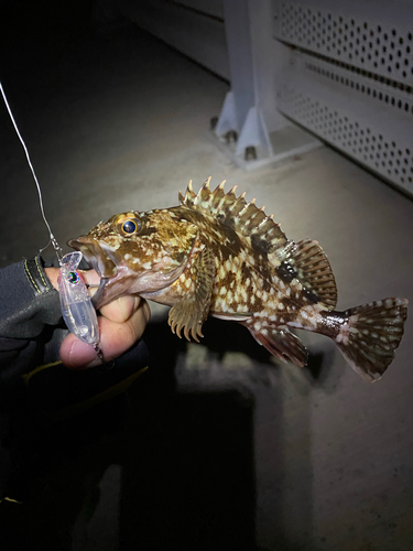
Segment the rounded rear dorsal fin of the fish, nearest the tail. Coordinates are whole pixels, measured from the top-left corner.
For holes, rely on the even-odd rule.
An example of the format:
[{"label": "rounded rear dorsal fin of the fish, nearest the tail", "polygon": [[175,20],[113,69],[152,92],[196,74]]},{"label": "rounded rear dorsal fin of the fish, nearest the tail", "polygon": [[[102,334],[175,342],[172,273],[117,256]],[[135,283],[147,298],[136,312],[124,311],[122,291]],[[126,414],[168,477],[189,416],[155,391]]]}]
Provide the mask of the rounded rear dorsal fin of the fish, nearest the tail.
[{"label": "rounded rear dorsal fin of the fish, nearest the tail", "polygon": [[320,305],[327,310],[336,307],[336,281],[318,241],[303,239],[297,244],[290,242],[285,249],[278,251],[276,257],[281,264],[289,264],[293,269],[303,288],[312,292]]}]

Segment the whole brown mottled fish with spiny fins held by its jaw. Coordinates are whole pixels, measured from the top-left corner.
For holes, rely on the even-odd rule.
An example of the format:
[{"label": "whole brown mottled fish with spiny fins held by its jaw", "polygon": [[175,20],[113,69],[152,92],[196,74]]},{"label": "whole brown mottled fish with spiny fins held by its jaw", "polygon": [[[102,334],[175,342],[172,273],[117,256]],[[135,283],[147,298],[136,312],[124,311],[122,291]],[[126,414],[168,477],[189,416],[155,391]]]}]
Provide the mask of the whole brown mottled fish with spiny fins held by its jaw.
[{"label": "whole brown mottled fish with spiny fins held by its jaw", "polygon": [[208,315],[237,322],[298,367],[308,353],[294,329],[319,333],[365,380],[380,379],[401,342],[407,300],[336,311],[336,281],[318,241],[287,239],[256,199],[224,185],[211,191],[209,177],[195,193],[189,182],[178,206],[117,214],[67,241],[101,278],[95,306],[135,293],[171,306],[172,332],[196,342]]}]

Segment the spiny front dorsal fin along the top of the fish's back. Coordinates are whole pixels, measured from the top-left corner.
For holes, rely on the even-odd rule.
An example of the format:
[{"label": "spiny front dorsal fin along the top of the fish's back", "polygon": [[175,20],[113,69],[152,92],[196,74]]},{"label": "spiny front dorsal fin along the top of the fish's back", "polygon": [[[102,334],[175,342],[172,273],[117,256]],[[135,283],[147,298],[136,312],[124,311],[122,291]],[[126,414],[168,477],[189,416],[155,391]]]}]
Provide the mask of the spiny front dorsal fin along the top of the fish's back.
[{"label": "spiny front dorsal fin along the top of the fish's back", "polygon": [[213,192],[209,188],[210,177],[197,194],[192,188],[192,181],[185,195],[180,193],[181,204],[194,210],[214,216],[221,224],[235,229],[238,234],[251,239],[251,246],[265,252],[274,251],[286,245],[286,237],[275,224],[271,216],[267,216],[263,208],[256,206],[256,199],[247,203],[244,193],[236,196],[232,187],[228,193],[224,192],[225,181]]}]

